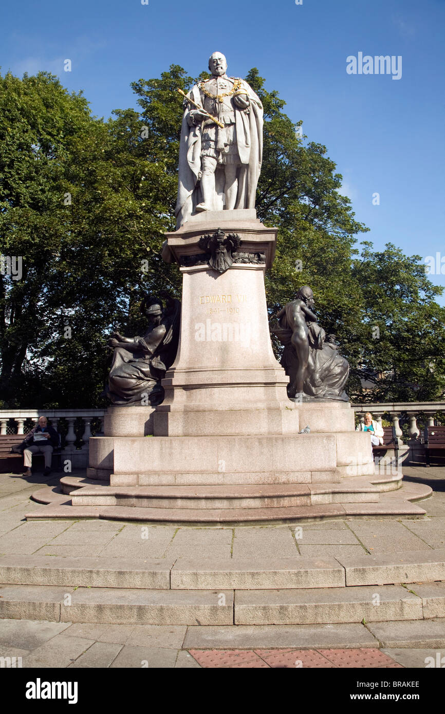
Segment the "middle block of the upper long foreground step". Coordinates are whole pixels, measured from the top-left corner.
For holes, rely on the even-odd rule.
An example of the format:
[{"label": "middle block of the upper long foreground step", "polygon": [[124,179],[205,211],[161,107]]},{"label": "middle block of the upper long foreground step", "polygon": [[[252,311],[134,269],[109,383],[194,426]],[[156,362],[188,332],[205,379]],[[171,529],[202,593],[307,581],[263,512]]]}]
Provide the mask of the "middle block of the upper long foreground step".
[{"label": "middle block of the upper long foreground step", "polygon": [[178,558],[171,569],[172,589],[334,588],[343,585],[344,568],[334,558]]}]

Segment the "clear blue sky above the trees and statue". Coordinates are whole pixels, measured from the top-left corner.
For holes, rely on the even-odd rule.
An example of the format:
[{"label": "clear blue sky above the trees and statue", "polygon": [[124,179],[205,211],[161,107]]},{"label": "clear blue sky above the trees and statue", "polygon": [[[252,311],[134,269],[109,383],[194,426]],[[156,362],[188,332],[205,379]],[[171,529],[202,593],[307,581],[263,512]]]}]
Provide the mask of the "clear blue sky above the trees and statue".
[{"label": "clear blue sky above the trees and statue", "polygon": [[[196,76],[215,50],[229,74],[258,67],[336,162],[371,228],[359,239],[439,252],[444,265],[430,279],[445,286],[445,0],[22,0],[1,14],[2,74],[52,71],[97,116],[136,106],[131,81],[170,64]],[[401,79],[347,74],[359,52],[401,56]]]}]

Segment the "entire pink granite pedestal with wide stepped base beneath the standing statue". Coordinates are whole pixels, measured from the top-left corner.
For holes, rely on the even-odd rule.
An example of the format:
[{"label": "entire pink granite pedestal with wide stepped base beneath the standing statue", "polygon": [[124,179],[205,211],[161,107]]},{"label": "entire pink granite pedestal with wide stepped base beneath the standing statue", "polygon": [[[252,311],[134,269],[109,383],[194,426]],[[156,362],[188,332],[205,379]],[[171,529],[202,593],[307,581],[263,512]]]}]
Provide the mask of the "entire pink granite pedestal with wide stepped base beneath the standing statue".
[{"label": "entire pink granite pedestal with wide stepped base beneath the standing statue", "polygon": [[[207,241],[215,233],[219,242]],[[237,238],[226,243],[230,235]],[[146,506],[141,515],[149,520],[225,522],[231,515],[251,520],[265,487],[274,495],[257,514],[260,521],[298,518],[287,511],[298,504],[306,503],[304,517],[312,518],[317,504],[378,501],[366,479],[347,495],[341,490],[342,477],[374,473],[369,436],[354,431],[349,403],[287,397],[289,378],[271,347],[264,290],[275,241],[276,228],[263,226],[255,211],[201,213],[167,234],[163,257],[179,263],[183,290],[179,348],[162,381],[164,402],[154,410],[109,409],[104,437],[90,439],[89,475],[104,478],[108,471],[112,493],[98,491],[99,501],[94,490],[86,500],[79,493],[76,503]],[[306,425],[310,433],[299,434]],[[149,433],[154,436],[144,438]],[[242,501],[241,511],[196,515],[197,507],[220,503],[215,488],[224,491],[225,509]],[[162,512],[168,503],[173,510]],[[329,508],[330,515],[343,513]]]}]

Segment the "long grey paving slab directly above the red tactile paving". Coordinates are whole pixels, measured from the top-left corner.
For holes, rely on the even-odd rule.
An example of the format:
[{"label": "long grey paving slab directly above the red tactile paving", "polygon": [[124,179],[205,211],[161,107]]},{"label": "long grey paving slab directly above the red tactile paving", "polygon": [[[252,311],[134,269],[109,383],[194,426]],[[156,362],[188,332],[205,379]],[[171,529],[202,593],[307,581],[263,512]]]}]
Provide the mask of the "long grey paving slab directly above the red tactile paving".
[{"label": "long grey paving slab directly above the red tactile paving", "polygon": [[189,627],[183,647],[190,648],[345,648],[376,647],[364,625],[227,625]]}]

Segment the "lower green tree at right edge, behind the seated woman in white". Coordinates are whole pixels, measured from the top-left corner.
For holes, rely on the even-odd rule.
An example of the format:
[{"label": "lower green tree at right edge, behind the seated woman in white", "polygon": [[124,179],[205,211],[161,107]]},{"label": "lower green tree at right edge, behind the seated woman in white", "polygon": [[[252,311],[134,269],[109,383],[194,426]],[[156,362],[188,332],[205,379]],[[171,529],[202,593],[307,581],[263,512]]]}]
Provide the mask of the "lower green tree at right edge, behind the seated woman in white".
[{"label": "lower green tree at right edge, behind the seated woman in white", "polygon": [[[354,396],[358,401],[431,401],[445,393],[445,309],[442,288],[426,277],[421,256],[405,256],[387,243],[374,251],[362,243],[352,266],[359,281],[361,331],[356,343]],[[358,377],[371,378],[372,394]]]}]

